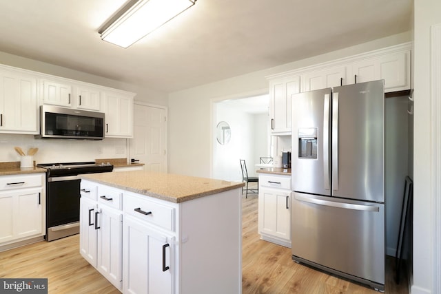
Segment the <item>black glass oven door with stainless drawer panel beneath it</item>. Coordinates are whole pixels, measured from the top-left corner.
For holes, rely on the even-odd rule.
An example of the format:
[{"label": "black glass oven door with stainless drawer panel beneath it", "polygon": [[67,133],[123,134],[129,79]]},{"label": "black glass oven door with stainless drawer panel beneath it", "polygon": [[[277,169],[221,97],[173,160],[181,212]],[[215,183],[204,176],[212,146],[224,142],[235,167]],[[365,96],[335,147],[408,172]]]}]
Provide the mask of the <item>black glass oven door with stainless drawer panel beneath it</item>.
[{"label": "black glass oven door with stainless drawer panel beneath it", "polygon": [[78,176],[48,178],[46,240],[79,233],[80,182]]}]

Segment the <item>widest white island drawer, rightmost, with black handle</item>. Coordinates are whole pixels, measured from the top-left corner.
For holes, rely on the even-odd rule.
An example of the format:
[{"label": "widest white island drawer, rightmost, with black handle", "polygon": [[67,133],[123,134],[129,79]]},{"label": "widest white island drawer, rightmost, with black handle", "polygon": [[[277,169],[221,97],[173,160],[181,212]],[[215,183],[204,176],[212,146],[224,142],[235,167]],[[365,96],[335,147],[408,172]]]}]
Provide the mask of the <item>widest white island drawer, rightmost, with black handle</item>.
[{"label": "widest white island drawer, rightmost, with black handle", "polygon": [[156,224],[163,229],[174,231],[174,207],[158,203],[154,199],[148,199],[147,196],[126,193],[124,213]]}]

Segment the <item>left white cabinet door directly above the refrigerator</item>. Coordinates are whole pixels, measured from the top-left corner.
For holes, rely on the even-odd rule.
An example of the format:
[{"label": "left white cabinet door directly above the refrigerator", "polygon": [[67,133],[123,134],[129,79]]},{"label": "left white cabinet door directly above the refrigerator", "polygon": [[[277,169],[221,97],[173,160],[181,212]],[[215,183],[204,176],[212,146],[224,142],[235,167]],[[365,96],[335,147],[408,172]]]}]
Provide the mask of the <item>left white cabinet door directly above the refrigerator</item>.
[{"label": "left white cabinet door directly above the refrigerator", "polygon": [[302,76],[302,92],[346,85],[346,67],[332,67]]}]

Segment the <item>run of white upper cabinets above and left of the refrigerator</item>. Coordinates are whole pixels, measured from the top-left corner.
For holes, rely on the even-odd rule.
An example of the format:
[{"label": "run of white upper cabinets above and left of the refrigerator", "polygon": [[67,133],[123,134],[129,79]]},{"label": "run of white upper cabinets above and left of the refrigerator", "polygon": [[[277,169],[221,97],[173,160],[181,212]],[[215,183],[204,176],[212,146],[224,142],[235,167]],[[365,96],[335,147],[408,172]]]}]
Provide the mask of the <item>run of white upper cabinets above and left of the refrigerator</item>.
[{"label": "run of white upper cabinets above and left of the refrigerator", "polygon": [[292,94],[384,79],[384,92],[411,88],[411,44],[267,76],[271,134],[291,135]]}]

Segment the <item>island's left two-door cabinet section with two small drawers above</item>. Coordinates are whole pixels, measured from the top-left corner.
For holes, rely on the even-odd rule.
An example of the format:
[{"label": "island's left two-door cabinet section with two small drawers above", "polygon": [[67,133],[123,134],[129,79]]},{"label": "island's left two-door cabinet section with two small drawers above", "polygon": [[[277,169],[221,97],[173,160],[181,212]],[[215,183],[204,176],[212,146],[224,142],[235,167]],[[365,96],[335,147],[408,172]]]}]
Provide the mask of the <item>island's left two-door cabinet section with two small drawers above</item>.
[{"label": "island's left two-door cabinet section with two small drawers above", "polygon": [[122,192],[81,181],[80,253],[120,291],[123,286]]}]

